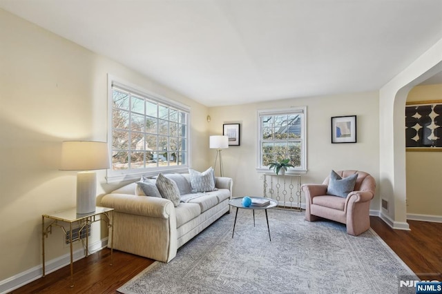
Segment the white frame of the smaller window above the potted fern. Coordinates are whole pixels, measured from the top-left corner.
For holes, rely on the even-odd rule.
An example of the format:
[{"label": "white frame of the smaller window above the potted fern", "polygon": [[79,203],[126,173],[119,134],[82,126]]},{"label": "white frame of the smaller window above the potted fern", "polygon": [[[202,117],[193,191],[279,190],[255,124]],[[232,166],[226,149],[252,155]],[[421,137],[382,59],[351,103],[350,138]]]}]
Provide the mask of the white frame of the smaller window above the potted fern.
[{"label": "white frame of the smaller window above the potted fern", "polygon": [[304,174],[307,173],[307,106],[297,106],[290,108],[277,108],[277,109],[263,109],[258,110],[257,119],[258,122],[258,134],[257,134],[257,143],[256,143],[256,171],[258,173],[271,173],[271,170],[267,166],[261,166],[262,161],[262,153],[261,153],[261,144],[262,144],[262,129],[261,129],[261,117],[269,116],[269,115],[290,115],[290,114],[299,114],[302,113],[302,121],[301,121],[301,162],[300,166],[297,168],[289,168],[287,170],[287,174]]}]

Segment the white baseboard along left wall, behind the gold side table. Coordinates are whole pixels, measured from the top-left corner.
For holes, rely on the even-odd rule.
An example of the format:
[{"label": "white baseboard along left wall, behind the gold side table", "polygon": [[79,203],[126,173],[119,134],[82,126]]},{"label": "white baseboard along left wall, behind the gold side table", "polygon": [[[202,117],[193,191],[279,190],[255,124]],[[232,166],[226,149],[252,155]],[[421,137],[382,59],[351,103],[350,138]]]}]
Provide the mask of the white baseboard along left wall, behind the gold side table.
[{"label": "white baseboard along left wall, behind the gold side table", "polygon": [[[102,250],[108,244],[108,238],[101,239],[93,244],[89,244],[89,254],[95,253],[97,251]],[[73,252],[73,260],[74,262],[86,257],[84,249],[78,249]],[[48,273],[52,273],[53,271],[57,271],[57,269],[62,268],[70,264],[70,253],[62,255],[52,260],[48,260],[45,262],[45,272],[46,275]],[[0,294],[9,293],[21,286],[29,284],[32,281],[35,281],[42,277],[43,275],[43,264],[39,264],[38,266],[34,266],[33,268],[28,269],[27,271],[23,271],[22,273],[18,273],[12,277],[8,277],[3,281],[0,281]]]}]

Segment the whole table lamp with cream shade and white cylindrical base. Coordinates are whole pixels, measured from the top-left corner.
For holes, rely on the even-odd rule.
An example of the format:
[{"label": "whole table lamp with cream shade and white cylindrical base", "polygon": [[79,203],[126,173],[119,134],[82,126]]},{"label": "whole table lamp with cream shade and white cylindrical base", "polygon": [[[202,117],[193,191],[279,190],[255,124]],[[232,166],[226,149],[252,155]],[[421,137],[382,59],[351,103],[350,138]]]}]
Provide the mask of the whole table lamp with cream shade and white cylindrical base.
[{"label": "whole table lamp with cream shade and white cylindrical base", "polygon": [[64,141],[61,170],[77,173],[77,213],[93,213],[96,206],[97,174],[92,170],[109,168],[108,144],[97,141]]}]

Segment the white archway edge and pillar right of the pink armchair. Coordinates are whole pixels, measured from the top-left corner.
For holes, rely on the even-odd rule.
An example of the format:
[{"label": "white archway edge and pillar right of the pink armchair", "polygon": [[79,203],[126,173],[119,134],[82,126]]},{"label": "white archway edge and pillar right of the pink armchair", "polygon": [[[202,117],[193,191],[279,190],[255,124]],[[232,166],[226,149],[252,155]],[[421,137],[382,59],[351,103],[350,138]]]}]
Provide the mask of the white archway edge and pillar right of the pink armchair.
[{"label": "white archway edge and pillar right of the pink armchair", "polygon": [[410,89],[442,71],[442,39],[379,91],[380,193],[390,205],[381,218],[409,229],[405,182],[405,101]]}]

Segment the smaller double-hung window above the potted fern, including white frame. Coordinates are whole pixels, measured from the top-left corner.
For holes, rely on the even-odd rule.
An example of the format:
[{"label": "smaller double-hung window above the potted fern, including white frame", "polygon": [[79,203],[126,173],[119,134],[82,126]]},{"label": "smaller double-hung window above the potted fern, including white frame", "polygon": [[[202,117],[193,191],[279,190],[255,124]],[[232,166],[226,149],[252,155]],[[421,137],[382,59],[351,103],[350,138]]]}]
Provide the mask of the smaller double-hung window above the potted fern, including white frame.
[{"label": "smaller double-hung window above the potted fern, including white frame", "polygon": [[307,171],[306,117],[306,107],[258,110],[258,171],[280,159],[290,159],[298,173]]}]

